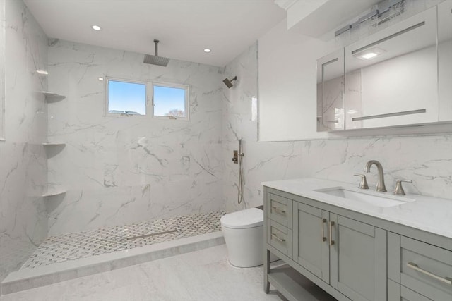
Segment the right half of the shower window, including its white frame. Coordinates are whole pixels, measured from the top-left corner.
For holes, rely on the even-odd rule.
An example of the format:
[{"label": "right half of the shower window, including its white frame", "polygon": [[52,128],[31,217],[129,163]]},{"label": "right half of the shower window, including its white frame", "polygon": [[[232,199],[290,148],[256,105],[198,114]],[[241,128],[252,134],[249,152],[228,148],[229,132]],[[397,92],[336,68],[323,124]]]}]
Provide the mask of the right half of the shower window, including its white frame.
[{"label": "right half of the shower window, including its white frame", "polygon": [[189,86],[153,82],[153,116],[189,120]]}]

